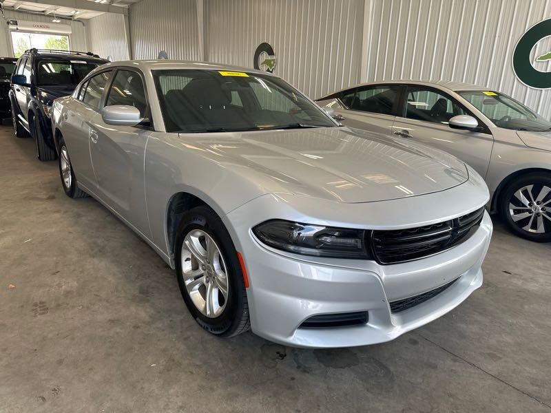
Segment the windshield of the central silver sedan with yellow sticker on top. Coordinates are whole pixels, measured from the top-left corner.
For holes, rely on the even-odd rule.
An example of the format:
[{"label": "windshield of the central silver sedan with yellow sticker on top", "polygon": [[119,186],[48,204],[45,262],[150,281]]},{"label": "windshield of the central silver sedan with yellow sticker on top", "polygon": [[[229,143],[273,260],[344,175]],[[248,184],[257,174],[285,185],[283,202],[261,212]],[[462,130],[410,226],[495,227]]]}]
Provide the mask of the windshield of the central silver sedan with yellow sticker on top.
[{"label": "windshield of the central silver sedan with yellow sticker on top", "polygon": [[274,76],[216,70],[154,70],[169,132],[334,127],[320,107]]}]

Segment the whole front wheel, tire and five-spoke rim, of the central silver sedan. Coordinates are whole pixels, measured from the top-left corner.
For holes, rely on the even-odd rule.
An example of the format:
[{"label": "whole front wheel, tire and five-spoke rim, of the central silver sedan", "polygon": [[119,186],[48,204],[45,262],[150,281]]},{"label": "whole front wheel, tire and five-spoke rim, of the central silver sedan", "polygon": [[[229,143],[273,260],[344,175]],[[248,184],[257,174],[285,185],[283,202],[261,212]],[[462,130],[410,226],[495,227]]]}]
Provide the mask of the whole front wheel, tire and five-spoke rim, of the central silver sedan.
[{"label": "whole front wheel, tire and five-spoke rim, of the central silver sedan", "polygon": [[[194,247],[188,248],[189,245]],[[211,246],[210,251],[214,253],[206,254],[209,249],[205,248],[207,245]],[[202,269],[191,249],[196,253],[200,250],[205,252],[203,259],[206,264]],[[176,237],[176,276],[189,313],[199,326],[218,337],[233,337],[249,330],[247,291],[236,248],[222,220],[209,207],[189,210],[180,222]],[[207,314],[206,299],[209,286],[211,297],[216,297],[216,303],[210,301],[210,315]]]}]

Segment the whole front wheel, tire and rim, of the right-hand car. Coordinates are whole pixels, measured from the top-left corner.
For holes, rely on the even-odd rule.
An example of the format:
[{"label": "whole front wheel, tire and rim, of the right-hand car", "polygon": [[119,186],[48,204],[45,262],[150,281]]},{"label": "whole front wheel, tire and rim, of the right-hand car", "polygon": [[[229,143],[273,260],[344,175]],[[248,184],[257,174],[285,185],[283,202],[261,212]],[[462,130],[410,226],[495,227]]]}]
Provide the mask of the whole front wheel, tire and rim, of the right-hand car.
[{"label": "whole front wheel, tire and rim, of the right-hand car", "polygon": [[512,233],[551,242],[551,173],[527,173],[513,180],[500,196],[499,212]]}]

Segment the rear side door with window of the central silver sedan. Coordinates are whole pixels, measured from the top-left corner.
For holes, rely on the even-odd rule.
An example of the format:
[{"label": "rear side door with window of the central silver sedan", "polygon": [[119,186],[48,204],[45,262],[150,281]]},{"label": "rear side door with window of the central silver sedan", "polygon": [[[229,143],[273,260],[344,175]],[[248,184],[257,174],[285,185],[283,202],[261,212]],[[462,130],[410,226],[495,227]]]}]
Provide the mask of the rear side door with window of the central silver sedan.
[{"label": "rear side door with window of the central silver sedan", "polygon": [[81,85],[76,98],[65,106],[63,139],[71,158],[74,173],[85,187],[96,192],[98,182],[90,157],[90,133],[96,122],[103,91],[112,71],[96,74]]}]

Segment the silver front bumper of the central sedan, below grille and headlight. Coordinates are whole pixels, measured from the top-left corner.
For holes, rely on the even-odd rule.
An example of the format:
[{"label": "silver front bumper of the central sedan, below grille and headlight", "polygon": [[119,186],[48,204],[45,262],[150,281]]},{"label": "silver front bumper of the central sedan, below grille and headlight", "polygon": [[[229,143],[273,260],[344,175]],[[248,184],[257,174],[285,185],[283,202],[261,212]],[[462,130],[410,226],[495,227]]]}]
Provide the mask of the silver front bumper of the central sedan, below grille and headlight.
[{"label": "silver front bumper of the central sedan, below grille and headlight", "polygon": [[[273,250],[249,230],[238,230],[245,257],[251,328],[261,337],[294,347],[364,346],[395,339],[461,304],[482,284],[481,264],[492,222],[487,212],[468,240],[432,257],[403,264],[323,260]],[[457,279],[428,301],[402,313],[389,303],[413,297]],[[367,311],[360,326],[300,328],[315,315]]]}]

